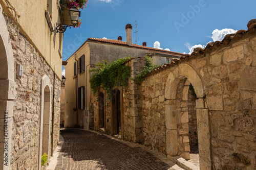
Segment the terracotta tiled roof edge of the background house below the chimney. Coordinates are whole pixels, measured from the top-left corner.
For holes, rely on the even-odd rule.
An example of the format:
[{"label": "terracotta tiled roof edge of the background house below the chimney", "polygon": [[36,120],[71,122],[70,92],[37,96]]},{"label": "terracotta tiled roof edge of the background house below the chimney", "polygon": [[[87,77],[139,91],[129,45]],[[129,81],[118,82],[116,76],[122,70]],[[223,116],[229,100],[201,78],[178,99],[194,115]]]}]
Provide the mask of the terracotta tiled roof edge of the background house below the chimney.
[{"label": "terracotta tiled roof edge of the background house below the chimney", "polygon": [[[118,44],[118,45],[127,45],[127,43],[125,41],[116,40],[116,39],[88,38],[87,41],[98,41],[98,42],[112,43],[112,44]],[[127,45],[127,46],[129,46],[129,45]],[[148,46],[143,46],[143,45],[138,45],[138,44],[133,44],[133,47],[143,48],[146,50],[154,50],[154,51],[159,51],[159,52],[183,55],[183,53],[161,50],[158,48],[153,48],[153,47],[148,47]]]}]

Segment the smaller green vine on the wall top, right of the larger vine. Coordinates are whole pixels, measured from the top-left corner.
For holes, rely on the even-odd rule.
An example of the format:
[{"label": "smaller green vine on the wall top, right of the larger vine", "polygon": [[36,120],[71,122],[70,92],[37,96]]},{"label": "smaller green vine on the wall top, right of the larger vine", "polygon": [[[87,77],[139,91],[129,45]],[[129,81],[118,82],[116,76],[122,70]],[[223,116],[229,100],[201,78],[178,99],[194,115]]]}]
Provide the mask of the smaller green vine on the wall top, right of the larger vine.
[{"label": "smaller green vine on the wall top, right of the larger vine", "polygon": [[144,68],[142,69],[142,71],[140,72],[140,74],[136,75],[135,78],[133,78],[133,80],[136,83],[141,83],[145,80],[145,77],[148,73],[150,73],[154,68],[158,67],[158,65],[155,65],[152,62],[152,58],[148,57],[148,56],[144,56],[146,58],[146,65],[144,66]]}]

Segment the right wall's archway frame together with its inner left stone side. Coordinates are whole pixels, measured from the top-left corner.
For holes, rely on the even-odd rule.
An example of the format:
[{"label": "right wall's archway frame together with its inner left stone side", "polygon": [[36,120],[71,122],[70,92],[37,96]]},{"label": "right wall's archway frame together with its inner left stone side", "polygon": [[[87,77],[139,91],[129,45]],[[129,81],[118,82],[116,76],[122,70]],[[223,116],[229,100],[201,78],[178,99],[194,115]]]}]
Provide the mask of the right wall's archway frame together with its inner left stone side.
[{"label": "right wall's archway frame together with its inner left stone side", "polygon": [[188,126],[188,90],[197,94],[196,115],[200,168],[211,169],[209,111],[204,106],[204,89],[200,77],[188,64],[182,63],[170,72],[165,86],[166,152],[170,156],[190,159]]}]

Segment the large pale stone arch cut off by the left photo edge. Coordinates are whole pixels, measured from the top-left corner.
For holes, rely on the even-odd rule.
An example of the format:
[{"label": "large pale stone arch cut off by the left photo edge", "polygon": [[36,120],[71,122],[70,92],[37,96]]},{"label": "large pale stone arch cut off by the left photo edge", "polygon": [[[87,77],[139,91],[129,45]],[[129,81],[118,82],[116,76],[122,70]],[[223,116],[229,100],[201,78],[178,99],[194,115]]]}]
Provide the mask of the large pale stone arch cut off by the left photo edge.
[{"label": "large pale stone arch cut off by the left photo edge", "polygon": [[[1,159],[0,169],[9,169],[12,149],[13,101],[15,99],[14,59],[6,21],[0,5],[0,156],[7,154],[7,161]],[[6,129],[7,128],[7,129]],[[6,133],[6,131],[8,133]],[[5,137],[3,137],[5,136]],[[7,141],[8,143],[5,143]],[[4,152],[5,144],[8,152]]]}]

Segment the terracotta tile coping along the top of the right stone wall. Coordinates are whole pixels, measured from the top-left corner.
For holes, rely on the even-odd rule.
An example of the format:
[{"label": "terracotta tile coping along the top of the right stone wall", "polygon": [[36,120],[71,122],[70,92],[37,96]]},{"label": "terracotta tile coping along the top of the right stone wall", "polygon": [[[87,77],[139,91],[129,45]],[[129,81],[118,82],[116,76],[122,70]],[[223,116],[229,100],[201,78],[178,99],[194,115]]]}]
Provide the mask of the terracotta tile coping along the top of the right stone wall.
[{"label": "terracotta tile coping along the top of the right stone wall", "polygon": [[212,49],[214,48],[217,48],[218,46],[220,45],[226,45],[228,44],[232,39],[240,39],[242,37],[243,34],[245,33],[249,33],[249,34],[255,34],[256,33],[256,19],[251,19],[248,24],[247,24],[247,28],[248,30],[239,30],[236,32],[236,34],[228,34],[226,35],[222,41],[215,41],[215,42],[210,42],[206,45],[205,48],[199,48],[198,50],[194,51],[193,53],[191,54],[183,54],[179,60],[177,59],[173,59],[170,61],[169,64],[165,64],[163,66],[159,66],[155,69],[153,69],[148,75],[154,73],[154,72],[157,72],[159,70],[162,70],[164,68],[167,68],[169,66],[173,66],[179,62],[182,62],[183,60],[189,60],[190,58],[195,58],[199,55],[202,55],[204,54],[205,52],[209,52],[211,51]]}]

